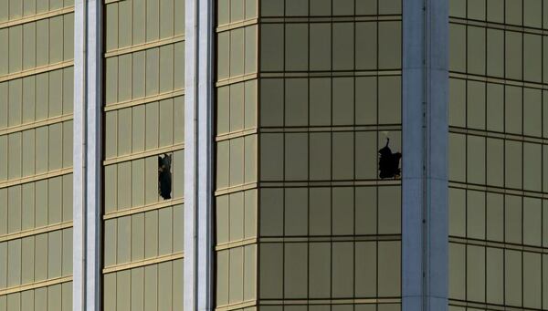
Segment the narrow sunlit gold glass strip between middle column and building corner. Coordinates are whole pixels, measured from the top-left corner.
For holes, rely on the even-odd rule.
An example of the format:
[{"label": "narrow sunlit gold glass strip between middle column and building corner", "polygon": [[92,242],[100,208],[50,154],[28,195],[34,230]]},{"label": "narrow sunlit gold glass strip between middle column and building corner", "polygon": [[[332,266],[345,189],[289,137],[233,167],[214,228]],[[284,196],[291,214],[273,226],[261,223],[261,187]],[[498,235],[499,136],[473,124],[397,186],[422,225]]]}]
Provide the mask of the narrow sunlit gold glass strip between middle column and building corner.
[{"label": "narrow sunlit gold glass strip between middle column and building corner", "polygon": [[256,309],[258,0],[217,1],[217,309]]}]

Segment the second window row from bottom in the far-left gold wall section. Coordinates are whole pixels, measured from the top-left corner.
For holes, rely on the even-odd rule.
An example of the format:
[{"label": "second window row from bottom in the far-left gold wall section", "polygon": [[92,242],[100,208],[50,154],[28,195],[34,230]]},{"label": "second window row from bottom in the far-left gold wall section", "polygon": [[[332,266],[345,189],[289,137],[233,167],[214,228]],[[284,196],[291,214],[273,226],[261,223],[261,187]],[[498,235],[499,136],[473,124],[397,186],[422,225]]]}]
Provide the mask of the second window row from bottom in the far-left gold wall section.
[{"label": "second window row from bottom in the far-left gold wall section", "polygon": [[71,274],[72,228],[0,243],[0,288]]}]

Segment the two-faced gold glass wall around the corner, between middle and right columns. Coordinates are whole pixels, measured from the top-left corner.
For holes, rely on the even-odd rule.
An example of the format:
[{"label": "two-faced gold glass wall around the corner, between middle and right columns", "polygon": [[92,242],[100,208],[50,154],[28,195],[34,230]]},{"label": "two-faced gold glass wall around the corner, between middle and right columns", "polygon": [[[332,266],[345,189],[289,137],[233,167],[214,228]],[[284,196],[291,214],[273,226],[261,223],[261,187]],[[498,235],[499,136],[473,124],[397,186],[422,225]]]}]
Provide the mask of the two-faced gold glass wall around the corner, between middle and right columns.
[{"label": "two-faced gold glass wall around the corner, between middle and right columns", "polygon": [[217,10],[216,308],[400,310],[401,2]]}]

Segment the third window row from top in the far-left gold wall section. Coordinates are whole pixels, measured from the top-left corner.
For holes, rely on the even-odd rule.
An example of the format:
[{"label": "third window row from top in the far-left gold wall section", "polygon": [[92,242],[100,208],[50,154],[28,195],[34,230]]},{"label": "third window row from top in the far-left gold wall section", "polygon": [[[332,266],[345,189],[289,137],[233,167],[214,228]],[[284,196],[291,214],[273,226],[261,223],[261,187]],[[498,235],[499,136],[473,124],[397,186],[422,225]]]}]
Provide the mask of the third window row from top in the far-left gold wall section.
[{"label": "third window row from top in the far-left gold wall section", "polygon": [[74,69],[0,83],[0,130],[72,113]]}]

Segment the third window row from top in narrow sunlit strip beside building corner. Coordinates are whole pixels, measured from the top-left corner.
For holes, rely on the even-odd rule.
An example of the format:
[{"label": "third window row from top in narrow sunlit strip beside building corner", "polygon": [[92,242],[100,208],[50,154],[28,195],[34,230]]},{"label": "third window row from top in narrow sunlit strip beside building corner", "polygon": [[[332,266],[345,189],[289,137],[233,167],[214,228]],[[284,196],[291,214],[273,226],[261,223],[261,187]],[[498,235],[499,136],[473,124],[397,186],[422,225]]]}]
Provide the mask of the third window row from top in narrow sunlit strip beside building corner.
[{"label": "third window row from top in narrow sunlit strip beside building corner", "polygon": [[217,88],[217,135],[257,126],[257,80]]}]

